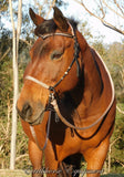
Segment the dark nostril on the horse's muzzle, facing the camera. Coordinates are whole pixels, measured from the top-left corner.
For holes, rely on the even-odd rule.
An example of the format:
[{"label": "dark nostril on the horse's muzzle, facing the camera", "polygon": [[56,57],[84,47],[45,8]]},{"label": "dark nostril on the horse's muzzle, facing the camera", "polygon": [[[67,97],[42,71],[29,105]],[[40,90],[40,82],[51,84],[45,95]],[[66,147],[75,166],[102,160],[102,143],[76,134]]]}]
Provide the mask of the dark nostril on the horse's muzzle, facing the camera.
[{"label": "dark nostril on the horse's muzzle, facing the camera", "polygon": [[29,103],[25,103],[22,108],[22,115],[28,118],[32,115],[32,107]]}]

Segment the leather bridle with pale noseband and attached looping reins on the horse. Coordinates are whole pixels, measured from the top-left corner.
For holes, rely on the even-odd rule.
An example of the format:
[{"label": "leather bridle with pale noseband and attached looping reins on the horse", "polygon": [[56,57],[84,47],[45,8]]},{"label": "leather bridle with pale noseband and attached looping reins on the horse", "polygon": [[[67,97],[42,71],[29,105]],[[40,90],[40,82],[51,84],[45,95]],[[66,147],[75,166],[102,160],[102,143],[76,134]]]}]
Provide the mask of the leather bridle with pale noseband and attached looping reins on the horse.
[{"label": "leather bridle with pale noseband and attached looping reins on the horse", "polygon": [[[69,24],[70,24],[70,23],[69,23]],[[80,53],[80,46],[79,46],[79,43],[78,43],[78,40],[76,40],[76,35],[75,35],[75,33],[74,33],[74,30],[73,30],[73,28],[72,28],[71,24],[70,24],[70,27],[71,27],[71,29],[72,29],[72,34],[66,34],[66,33],[50,33],[50,34],[46,34],[46,35],[41,35],[41,34],[40,34],[40,38],[42,38],[43,40],[45,40],[46,38],[52,37],[52,35],[62,35],[62,37],[68,37],[68,38],[73,38],[73,39],[74,39],[74,58],[73,58],[71,64],[69,65],[68,70],[64,72],[63,76],[62,76],[53,86],[48,85],[48,84],[45,84],[45,83],[43,83],[43,82],[41,82],[41,81],[39,81],[39,80],[30,76],[30,75],[27,75],[27,76],[25,76],[27,80],[30,80],[30,81],[32,81],[32,82],[34,82],[34,83],[37,83],[37,84],[41,85],[42,87],[44,87],[44,88],[46,88],[46,90],[50,91],[49,104],[48,104],[46,108],[44,110],[44,111],[50,111],[50,115],[49,115],[49,122],[48,122],[46,139],[45,139],[45,144],[44,144],[44,147],[43,147],[43,148],[41,148],[41,147],[39,146],[39,143],[38,143],[37,135],[35,135],[35,132],[34,132],[34,129],[33,129],[33,126],[30,125],[30,131],[31,131],[31,133],[32,133],[32,135],[33,135],[33,138],[34,138],[38,147],[39,147],[41,150],[43,150],[43,149],[45,148],[46,142],[48,142],[48,137],[49,137],[49,129],[50,129],[50,122],[51,122],[51,112],[52,112],[51,108],[49,107],[50,105],[53,106],[53,108],[54,108],[54,111],[56,112],[56,114],[58,114],[58,116],[60,117],[60,119],[61,119],[61,121],[63,122],[63,124],[65,124],[68,127],[73,128],[73,129],[85,131],[85,129],[89,129],[89,128],[95,126],[99,122],[101,122],[102,118],[107,114],[108,110],[111,108],[111,106],[112,106],[112,104],[113,104],[113,102],[114,102],[114,86],[113,86],[113,82],[112,82],[112,79],[111,79],[111,76],[110,76],[110,73],[108,73],[105,64],[103,63],[105,70],[106,70],[107,73],[108,73],[110,81],[111,81],[111,84],[112,84],[112,100],[111,100],[107,108],[106,108],[106,110],[104,111],[104,113],[102,114],[102,116],[99,117],[99,119],[96,119],[93,124],[91,124],[91,125],[89,125],[89,126],[86,126],[86,127],[78,127],[78,126],[71,124],[70,122],[68,122],[68,121],[65,119],[65,117],[62,116],[62,114],[61,114],[61,112],[60,112],[60,108],[59,108],[59,106],[58,106],[56,98],[55,98],[55,87],[56,87],[56,86],[64,80],[64,77],[69,74],[72,65],[74,64],[74,62],[76,62],[76,65],[78,65],[78,76],[80,76],[80,64],[79,64],[79,61],[78,61],[79,53]],[[92,52],[91,52],[91,53],[92,53]],[[92,53],[92,55],[93,55],[93,53]],[[94,58],[94,56],[93,56],[93,58]],[[44,112],[44,111],[43,111],[43,112]]]}]

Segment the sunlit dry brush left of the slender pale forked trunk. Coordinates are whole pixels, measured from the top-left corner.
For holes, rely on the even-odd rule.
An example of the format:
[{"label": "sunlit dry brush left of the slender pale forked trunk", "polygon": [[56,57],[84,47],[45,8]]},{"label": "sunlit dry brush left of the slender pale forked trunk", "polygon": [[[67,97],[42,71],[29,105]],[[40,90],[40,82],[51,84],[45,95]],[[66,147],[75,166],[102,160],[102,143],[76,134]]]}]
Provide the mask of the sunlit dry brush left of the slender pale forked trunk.
[{"label": "sunlit dry brush left of the slender pale forked trunk", "polygon": [[[0,63],[0,167],[8,164],[10,153],[10,114],[12,104],[12,69],[11,60],[7,56]],[[7,166],[6,166],[7,167]]]}]

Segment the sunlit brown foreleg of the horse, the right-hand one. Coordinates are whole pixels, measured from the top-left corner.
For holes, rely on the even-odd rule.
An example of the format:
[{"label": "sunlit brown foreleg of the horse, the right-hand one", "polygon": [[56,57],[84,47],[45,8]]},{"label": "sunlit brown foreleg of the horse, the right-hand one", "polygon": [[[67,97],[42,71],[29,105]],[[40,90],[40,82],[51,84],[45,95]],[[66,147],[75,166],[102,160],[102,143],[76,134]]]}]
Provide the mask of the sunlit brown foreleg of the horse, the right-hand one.
[{"label": "sunlit brown foreleg of the horse, the right-hand one", "polygon": [[108,144],[110,138],[106,137],[96,148],[89,149],[83,154],[87,163],[86,177],[100,177],[108,150]]}]

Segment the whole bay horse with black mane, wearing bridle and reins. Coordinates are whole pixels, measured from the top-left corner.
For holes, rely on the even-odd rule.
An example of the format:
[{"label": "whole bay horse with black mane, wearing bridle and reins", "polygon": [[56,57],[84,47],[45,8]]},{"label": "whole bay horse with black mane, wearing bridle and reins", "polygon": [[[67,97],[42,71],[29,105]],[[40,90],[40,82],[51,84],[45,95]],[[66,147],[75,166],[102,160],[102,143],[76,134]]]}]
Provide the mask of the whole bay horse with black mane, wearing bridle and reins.
[{"label": "whole bay horse with black mane, wearing bridle and reins", "polygon": [[23,75],[17,110],[29,137],[32,176],[99,177],[115,121],[111,75],[100,55],[56,7],[45,20],[30,9],[38,40]]}]

